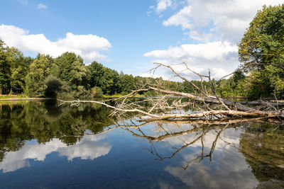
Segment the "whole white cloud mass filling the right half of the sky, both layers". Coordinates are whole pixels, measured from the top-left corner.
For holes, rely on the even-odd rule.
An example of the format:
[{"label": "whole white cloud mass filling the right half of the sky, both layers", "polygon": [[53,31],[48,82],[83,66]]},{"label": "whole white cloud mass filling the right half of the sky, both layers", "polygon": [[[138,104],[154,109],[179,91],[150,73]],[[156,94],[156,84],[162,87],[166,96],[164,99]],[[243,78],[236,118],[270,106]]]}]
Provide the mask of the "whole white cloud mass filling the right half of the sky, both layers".
[{"label": "whole white cloud mass filling the right half of the sky, both layers", "polygon": [[[172,64],[186,62],[190,68],[203,74],[210,69],[212,76],[219,79],[239,66],[236,43],[241,40],[256,12],[265,4],[282,3],[283,0],[187,0],[180,4],[179,11],[163,21],[163,25],[180,26],[195,44],[153,50],[144,56]],[[187,76],[188,79],[198,79],[192,74]]]}]

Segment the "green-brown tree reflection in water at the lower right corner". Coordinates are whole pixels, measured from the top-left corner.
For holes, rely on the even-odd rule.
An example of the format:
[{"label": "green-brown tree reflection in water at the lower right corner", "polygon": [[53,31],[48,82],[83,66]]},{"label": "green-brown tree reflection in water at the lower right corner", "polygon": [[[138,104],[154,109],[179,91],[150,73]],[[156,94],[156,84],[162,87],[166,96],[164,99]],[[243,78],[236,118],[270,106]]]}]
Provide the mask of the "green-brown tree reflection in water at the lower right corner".
[{"label": "green-brown tree reflection in water at the lower right corner", "polygon": [[258,181],[284,181],[284,129],[272,124],[251,124],[241,134],[241,152]]}]

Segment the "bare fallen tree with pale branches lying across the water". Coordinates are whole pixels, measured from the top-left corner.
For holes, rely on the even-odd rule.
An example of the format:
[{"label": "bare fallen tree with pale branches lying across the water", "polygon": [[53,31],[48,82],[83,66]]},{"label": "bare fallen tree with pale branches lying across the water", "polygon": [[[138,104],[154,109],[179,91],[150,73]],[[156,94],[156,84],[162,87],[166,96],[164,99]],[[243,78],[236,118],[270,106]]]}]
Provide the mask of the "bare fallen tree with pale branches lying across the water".
[{"label": "bare fallen tree with pale branches lying across the water", "polygon": [[[62,101],[62,103],[71,103],[71,105],[79,105],[80,103],[99,103],[112,108],[113,112],[110,116],[124,115],[124,118],[129,113],[136,113],[135,116],[139,121],[150,122],[155,120],[226,120],[231,118],[284,118],[284,108],[281,107],[284,103],[270,101],[228,101],[217,95],[214,88],[214,83],[210,76],[210,71],[207,75],[199,74],[190,69],[187,64],[182,63],[185,67],[182,71],[190,71],[200,77],[201,87],[196,86],[192,81],[188,80],[182,71],[176,71],[172,66],[162,63],[154,63],[157,66],[151,71],[155,71],[159,67],[165,67],[173,71],[175,76],[178,76],[183,81],[189,82],[198,93],[183,93],[179,91],[170,91],[163,84],[143,84],[140,88],[126,96],[114,98],[108,101],[113,101],[111,105],[108,101]],[[211,88],[203,86],[202,82],[207,79],[211,84]],[[155,91],[157,96],[146,97],[141,99],[131,98],[137,93]],[[186,98],[186,99],[185,99]],[[183,100],[185,99],[185,100]],[[60,104],[60,105],[61,105]],[[249,106],[253,105],[253,106]],[[184,111],[184,108],[190,108],[190,112]],[[131,114],[133,116],[133,114]]]}]

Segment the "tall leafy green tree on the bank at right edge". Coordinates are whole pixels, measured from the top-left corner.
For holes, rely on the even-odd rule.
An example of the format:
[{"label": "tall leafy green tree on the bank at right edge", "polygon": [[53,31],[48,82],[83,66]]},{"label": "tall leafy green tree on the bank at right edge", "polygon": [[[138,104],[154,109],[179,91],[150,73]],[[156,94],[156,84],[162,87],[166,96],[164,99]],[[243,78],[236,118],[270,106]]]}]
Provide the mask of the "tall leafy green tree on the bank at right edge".
[{"label": "tall leafy green tree on the bank at right edge", "polygon": [[[284,4],[263,6],[239,44],[239,60],[253,74],[261,94],[284,95]],[[261,78],[268,76],[268,79]],[[267,83],[268,82],[268,83]],[[264,87],[266,86],[266,87]]]}]

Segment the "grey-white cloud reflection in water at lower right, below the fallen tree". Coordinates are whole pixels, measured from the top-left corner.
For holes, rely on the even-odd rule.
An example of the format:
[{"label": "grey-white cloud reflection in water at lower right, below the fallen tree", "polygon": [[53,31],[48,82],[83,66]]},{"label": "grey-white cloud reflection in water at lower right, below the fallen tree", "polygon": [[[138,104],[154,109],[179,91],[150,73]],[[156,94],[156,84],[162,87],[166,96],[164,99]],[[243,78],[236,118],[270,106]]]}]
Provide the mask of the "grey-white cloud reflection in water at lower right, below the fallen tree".
[{"label": "grey-white cloud reflection in water at lower right, below the fallen tree", "polygon": [[[209,154],[217,132],[219,130],[211,130],[204,134],[204,155]],[[217,139],[212,162],[209,157],[202,159],[202,161],[200,159],[192,161],[201,155],[202,142],[199,139],[190,145],[190,151],[185,150],[179,154],[183,160],[180,161],[180,166],[166,166],[165,171],[175,178],[179,178],[190,188],[253,188],[258,184],[258,181],[251,173],[251,168],[246,163],[244,156],[235,148],[239,147],[240,135],[243,132],[244,130],[240,128],[224,130]],[[165,141],[170,146],[177,147],[192,142],[198,137],[196,134],[169,137]]]}]

